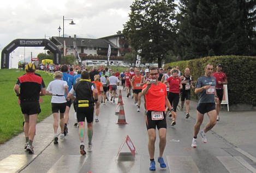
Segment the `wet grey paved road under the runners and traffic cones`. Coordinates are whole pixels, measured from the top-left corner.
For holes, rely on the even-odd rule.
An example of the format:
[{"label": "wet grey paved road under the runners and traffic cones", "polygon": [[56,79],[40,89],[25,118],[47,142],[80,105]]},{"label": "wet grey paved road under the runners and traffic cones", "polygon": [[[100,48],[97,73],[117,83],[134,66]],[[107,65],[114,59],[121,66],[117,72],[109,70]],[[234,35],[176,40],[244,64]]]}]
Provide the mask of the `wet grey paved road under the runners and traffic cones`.
[{"label": "wet grey paved road under the runners and traffic cones", "polygon": [[[53,145],[52,116],[37,125],[34,155],[23,150],[24,135],[0,145],[0,172],[152,172],[148,170],[147,131],[144,108],[136,112],[134,101],[122,91],[127,125],[116,125],[116,105],[101,105],[99,122],[93,123],[93,150],[86,157],[79,152],[78,128],[73,127],[74,110],[70,111],[69,134]],[[117,98],[116,98],[117,101]],[[50,104],[49,104],[50,105]],[[198,147],[192,149],[193,125],[197,102],[191,103],[191,117],[184,119],[178,111],[177,125],[167,119],[167,144],[164,152],[167,168],[156,172],[256,172],[256,112],[221,112],[221,121],[207,133],[208,143],[198,136]],[[104,108],[104,111],[103,111]],[[205,118],[203,126],[208,122]],[[202,127],[203,128],[203,127]],[[135,158],[117,157],[126,135],[136,147]],[[87,138],[85,138],[87,141]],[[121,152],[128,152],[124,146]],[[156,141],[155,159],[159,153]]]}]

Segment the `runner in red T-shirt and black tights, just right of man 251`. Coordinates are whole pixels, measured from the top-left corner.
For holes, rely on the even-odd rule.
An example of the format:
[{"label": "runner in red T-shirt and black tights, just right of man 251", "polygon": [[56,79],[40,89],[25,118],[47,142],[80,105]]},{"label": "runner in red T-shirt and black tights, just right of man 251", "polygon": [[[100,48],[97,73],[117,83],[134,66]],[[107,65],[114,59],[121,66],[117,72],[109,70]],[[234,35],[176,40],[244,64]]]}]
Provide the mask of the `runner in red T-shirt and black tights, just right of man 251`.
[{"label": "runner in red T-shirt and black tights, just right of man 251", "polygon": [[182,89],[181,79],[178,78],[178,70],[171,70],[171,77],[169,77],[164,83],[169,83],[169,94],[168,99],[171,106],[174,109],[175,114],[172,116],[171,126],[176,125],[176,109],[178,106],[178,101],[180,101],[180,89]]}]

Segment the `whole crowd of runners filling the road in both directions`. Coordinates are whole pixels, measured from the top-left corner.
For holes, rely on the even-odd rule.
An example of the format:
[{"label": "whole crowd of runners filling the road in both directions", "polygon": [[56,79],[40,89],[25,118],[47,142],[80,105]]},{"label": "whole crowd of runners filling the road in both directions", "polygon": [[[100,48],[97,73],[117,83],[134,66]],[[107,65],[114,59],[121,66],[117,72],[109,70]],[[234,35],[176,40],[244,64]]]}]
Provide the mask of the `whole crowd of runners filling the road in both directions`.
[{"label": "whole crowd of runners filling the road in both directions", "polygon": [[[205,75],[198,79],[192,78],[189,68],[181,72],[178,66],[166,69],[130,67],[120,73],[108,67],[93,66],[91,70],[87,70],[79,66],[63,65],[60,68],[61,71],[54,73],[55,79],[47,88],[40,75],[35,73],[33,64],[27,64],[25,69],[26,74],[17,79],[14,91],[21,101],[21,112],[25,120],[25,149],[29,153],[34,153],[32,143],[37,116],[40,113],[39,96],[52,96],[53,144],[58,144],[58,125],[61,128],[61,140],[68,134],[69,110],[73,104],[77,120],[74,126],[79,127],[80,153],[86,155],[86,150],[92,150],[93,121],[99,123],[99,112],[101,108],[104,109],[105,104],[116,102],[117,88],[120,86],[120,89],[126,90],[127,98],[134,99],[137,112],[140,112],[141,103],[144,103],[142,106],[145,108],[150,170],[156,170],[154,162],[156,127],[159,133],[157,160],[160,167],[165,168],[166,164],[162,156],[166,145],[166,116],[171,118],[171,126],[177,125],[177,109],[184,109],[183,118],[189,118],[192,89],[195,89],[195,94],[199,96],[199,102],[191,146],[197,147],[198,133],[203,143],[207,143],[206,133],[215,126],[216,121],[219,121],[223,85],[228,83],[221,64],[217,64],[214,73],[214,66],[207,64],[204,68]],[[209,116],[210,122],[200,131],[205,113]],[[87,147],[84,143],[86,124]]]}]

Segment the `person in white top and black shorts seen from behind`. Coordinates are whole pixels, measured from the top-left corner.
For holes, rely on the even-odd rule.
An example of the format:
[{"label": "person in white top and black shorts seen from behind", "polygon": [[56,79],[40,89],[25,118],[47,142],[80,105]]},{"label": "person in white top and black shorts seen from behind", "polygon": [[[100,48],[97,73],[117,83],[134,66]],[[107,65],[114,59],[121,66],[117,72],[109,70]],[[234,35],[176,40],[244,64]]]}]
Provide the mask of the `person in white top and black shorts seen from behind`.
[{"label": "person in white top and black shorts seen from behind", "polygon": [[51,95],[51,109],[53,114],[53,130],[54,138],[53,144],[58,144],[58,112],[59,112],[59,126],[61,127],[61,139],[64,139],[64,112],[66,110],[66,98],[65,92],[68,95],[68,84],[66,81],[62,81],[62,72],[56,71],[54,73],[55,80],[50,82],[47,89],[46,95]]}]

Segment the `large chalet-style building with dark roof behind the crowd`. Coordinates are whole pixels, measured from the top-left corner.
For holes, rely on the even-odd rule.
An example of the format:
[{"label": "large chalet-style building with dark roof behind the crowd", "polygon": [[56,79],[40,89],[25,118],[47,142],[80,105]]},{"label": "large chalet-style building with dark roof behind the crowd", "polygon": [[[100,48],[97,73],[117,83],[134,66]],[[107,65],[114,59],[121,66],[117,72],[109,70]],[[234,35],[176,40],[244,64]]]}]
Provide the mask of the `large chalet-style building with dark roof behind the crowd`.
[{"label": "large chalet-style building with dark roof behind the crowd", "polygon": [[[75,54],[74,40],[76,40],[76,50],[82,61],[93,61],[97,63],[107,63],[109,45],[111,47],[110,64],[123,63],[123,56],[131,52],[128,39],[125,39],[121,31],[115,35],[105,36],[99,39],[74,38],[69,36],[64,38],[67,55]],[[56,44],[63,53],[63,37],[52,36],[51,41]]]}]

